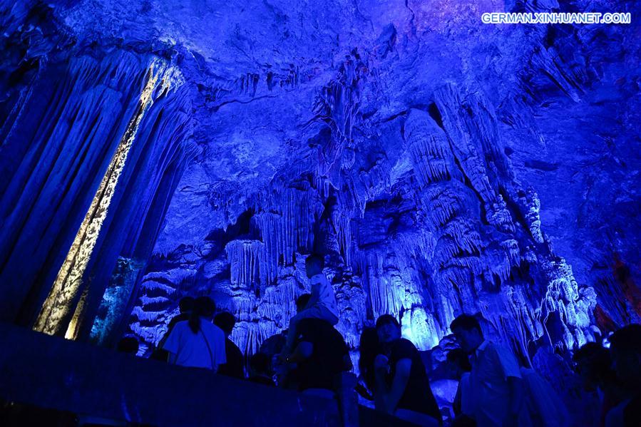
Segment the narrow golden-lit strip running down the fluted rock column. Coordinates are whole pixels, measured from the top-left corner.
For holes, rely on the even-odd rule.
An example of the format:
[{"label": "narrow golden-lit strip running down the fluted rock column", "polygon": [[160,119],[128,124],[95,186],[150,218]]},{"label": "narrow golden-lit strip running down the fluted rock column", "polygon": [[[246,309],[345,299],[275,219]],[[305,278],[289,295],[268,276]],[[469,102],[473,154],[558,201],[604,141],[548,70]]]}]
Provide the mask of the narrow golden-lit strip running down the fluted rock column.
[{"label": "narrow golden-lit strip running down the fluted rock column", "polygon": [[[118,179],[125,167],[127,155],[131,148],[135,135],[138,132],[138,126],[143,119],[145,112],[153,104],[153,93],[160,85],[160,93],[169,89],[175,81],[174,70],[170,70],[164,63],[152,63],[146,77],[145,87],[140,93],[138,108],[131,118],[123,138],[118,143],[116,153],[114,153],[111,162],[107,168],[103,179],[101,180],[96,195],[93,197],[89,210],[87,211],[80,229],[73,240],[71,249],[53,282],[51,292],[46,298],[41,312],[34,324],[34,330],[46,334],[59,334],[66,330],[66,338],[74,338],[76,328],[73,325],[81,318],[83,311],[84,299],[78,301],[78,292],[82,288],[83,274],[91,258],[93,248],[98,240],[103,222],[107,216],[107,211],[111,199],[118,185]],[[70,324],[65,324],[73,312],[73,318]]]}]

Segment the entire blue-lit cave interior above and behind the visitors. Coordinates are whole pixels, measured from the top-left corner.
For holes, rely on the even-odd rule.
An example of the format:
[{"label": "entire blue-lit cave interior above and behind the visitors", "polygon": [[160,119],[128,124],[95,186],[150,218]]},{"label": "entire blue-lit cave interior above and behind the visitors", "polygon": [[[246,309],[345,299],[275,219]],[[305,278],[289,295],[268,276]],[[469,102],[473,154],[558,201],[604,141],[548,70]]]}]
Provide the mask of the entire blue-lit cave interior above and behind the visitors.
[{"label": "entire blue-lit cave interior above and behind the visitors", "polygon": [[572,394],[641,321],[639,29],[481,21],[521,6],[611,4],[0,2],[1,319],[149,356],[207,295],[249,357],[318,252],[354,361],[392,314],[446,398],[479,314]]}]

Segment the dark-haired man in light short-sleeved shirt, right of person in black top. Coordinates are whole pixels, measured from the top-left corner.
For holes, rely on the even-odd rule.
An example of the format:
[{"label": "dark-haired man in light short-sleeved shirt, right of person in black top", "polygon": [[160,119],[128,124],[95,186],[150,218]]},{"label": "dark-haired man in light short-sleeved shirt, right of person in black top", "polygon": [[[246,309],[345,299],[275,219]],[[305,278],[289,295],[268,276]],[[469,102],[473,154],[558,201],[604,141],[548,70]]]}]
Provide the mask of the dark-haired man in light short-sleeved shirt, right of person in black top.
[{"label": "dark-haired man in light short-sleeved shirt, right of person in black top", "polygon": [[476,317],[461,314],[450,329],[470,355],[471,411],[480,427],[529,426],[518,361],[508,349],[486,341]]}]

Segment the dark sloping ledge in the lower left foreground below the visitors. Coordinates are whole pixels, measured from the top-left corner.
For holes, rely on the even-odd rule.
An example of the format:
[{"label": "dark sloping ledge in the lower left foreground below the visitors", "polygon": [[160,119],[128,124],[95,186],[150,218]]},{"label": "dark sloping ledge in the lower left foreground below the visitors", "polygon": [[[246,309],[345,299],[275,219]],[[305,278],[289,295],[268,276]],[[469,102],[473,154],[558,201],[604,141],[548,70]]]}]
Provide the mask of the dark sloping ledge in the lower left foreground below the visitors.
[{"label": "dark sloping ledge in the lower left foreground below the visitors", "polygon": [[[0,397],[156,426],[340,426],[337,403],[0,324]],[[361,426],[401,426],[359,408]]]}]

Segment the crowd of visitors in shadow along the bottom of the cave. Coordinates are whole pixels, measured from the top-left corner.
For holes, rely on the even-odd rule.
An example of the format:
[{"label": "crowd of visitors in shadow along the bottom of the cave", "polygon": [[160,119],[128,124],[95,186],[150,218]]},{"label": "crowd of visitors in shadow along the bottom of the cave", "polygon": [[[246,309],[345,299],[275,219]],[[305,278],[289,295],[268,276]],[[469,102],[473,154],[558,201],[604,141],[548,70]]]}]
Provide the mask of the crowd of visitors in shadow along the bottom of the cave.
[{"label": "crowd of visitors in shadow along the bottom of the cave", "polygon": [[[235,317],[215,314],[209,297],[185,297],[152,357],[264,386],[336,397],[342,375],[353,369],[352,359],[334,328],[338,310],[323,258],[309,256],[306,268],[312,292],[297,298],[289,331],[268,339],[265,350],[245,359],[230,339]],[[401,337],[399,321],[390,314],[362,331],[355,391],[377,410],[419,426],[572,425],[550,384],[519,364],[506,346],[486,339],[477,317],[461,314],[450,329],[458,345],[446,354],[446,370],[458,381],[452,413],[439,408],[419,350]],[[133,341],[123,339],[118,349],[135,353],[138,342]],[[586,390],[599,393],[600,426],[641,426],[641,325],[625,326],[609,341],[609,349],[588,343],[575,351],[576,374]]]}]

